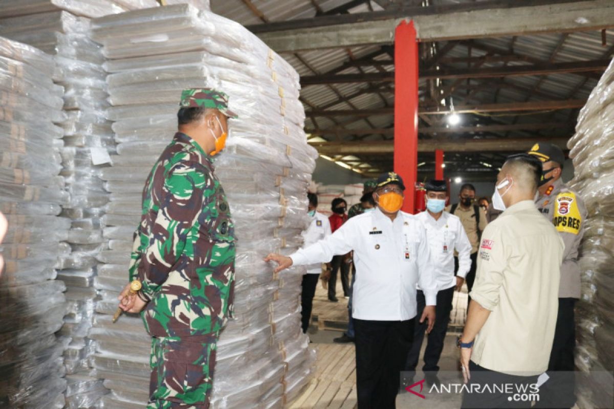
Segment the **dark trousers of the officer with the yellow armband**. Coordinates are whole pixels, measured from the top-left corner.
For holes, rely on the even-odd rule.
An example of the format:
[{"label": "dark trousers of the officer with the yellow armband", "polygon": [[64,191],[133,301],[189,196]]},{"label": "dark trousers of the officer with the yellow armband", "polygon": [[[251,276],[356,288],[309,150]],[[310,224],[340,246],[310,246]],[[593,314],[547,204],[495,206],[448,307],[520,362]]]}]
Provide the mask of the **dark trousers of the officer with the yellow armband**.
[{"label": "dark trousers of the officer with the yellow armband", "polygon": [[559,298],[559,313],[554,327],[554,342],[548,362],[548,379],[540,388],[535,408],[571,408],[575,405],[575,299]]}]

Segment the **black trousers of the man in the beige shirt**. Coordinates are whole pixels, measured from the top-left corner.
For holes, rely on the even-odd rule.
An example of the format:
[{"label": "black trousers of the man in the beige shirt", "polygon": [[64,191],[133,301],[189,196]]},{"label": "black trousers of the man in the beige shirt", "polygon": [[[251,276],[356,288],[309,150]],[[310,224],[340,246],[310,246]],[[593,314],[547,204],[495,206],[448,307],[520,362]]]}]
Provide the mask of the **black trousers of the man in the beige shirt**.
[{"label": "black trousers of the man in the beige shirt", "polygon": [[[519,377],[507,373],[495,372],[469,361],[471,379],[467,388],[463,389],[461,408],[530,408],[530,394],[537,393],[530,384],[537,382],[538,375]],[[506,393],[505,385],[509,385],[511,393]],[[476,385],[476,386],[474,386]],[[488,389],[486,386],[488,385]],[[498,386],[498,389],[497,389]],[[469,391],[482,391],[469,393]],[[484,392],[489,391],[489,392]],[[517,393],[521,391],[521,393]],[[526,393],[523,393],[526,392]]]}]

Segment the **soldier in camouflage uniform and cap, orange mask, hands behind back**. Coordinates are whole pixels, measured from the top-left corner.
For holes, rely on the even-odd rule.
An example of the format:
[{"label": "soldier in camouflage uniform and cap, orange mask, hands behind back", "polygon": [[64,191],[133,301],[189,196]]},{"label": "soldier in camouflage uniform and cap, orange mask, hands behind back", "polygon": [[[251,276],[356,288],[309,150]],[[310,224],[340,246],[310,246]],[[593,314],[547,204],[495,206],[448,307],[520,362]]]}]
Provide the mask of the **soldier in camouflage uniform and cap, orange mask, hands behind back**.
[{"label": "soldier in camouflage uniform and cap, orange mask, hands behind back", "polygon": [[233,314],[235,232],[211,156],[227,135],[226,94],[185,90],[179,132],[163,151],[142,194],[130,280],[120,307],[141,312],[152,336],[148,408],[209,407],[216,343]]}]

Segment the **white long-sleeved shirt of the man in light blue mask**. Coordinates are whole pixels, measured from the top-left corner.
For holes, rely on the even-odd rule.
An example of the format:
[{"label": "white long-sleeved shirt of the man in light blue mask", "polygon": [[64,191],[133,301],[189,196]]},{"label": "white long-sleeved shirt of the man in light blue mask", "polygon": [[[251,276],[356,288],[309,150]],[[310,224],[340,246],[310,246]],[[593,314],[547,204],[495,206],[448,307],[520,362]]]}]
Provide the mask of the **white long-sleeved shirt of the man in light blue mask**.
[{"label": "white long-sleeved shirt of the man in light blue mask", "polygon": [[426,227],[430,256],[433,258],[433,273],[437,289],[441,291],[456,286],[454,277],[454,250],[459,254],[457,275],[465,278],[471,268],[472,245],[462,226],[461,219],[448,212],[441,213],[435,220],[429,212],[416,215]]}]

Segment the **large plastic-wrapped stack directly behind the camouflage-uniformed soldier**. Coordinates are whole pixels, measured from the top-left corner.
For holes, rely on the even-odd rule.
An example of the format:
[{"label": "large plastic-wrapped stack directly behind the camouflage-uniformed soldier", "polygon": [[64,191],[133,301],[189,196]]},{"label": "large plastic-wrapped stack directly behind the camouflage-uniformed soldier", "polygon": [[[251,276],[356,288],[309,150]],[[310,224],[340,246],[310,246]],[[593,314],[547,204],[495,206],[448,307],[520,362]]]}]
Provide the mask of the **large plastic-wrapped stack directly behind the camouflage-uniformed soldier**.
[{"label": "large plastic-wrapped stack directly behind the camouflage-uniformed soldier", "polygon": [[213,407],[281,407],[309,379],[313,355],[300,331],[303,269],[274,275],[262,261],[271,251],[300,247],[307,226],[306,192],[316,151],[306,143],[298,75],[233,21],[186,6],[167,6],[93,21],[110,73],[108,118],[117,155],[101,172],[111,201],[104,215],[109,250],[100,255],[91,363],[112,393],[109,408],[147,401],[150,339],[139,318],[111,323],[128,277],[141,192],[153,163],[177,129],[184,88],[211,87],[230,96],[227,148],[216,174],[230,203],[238,237],[236,319],[220,336]]}]

